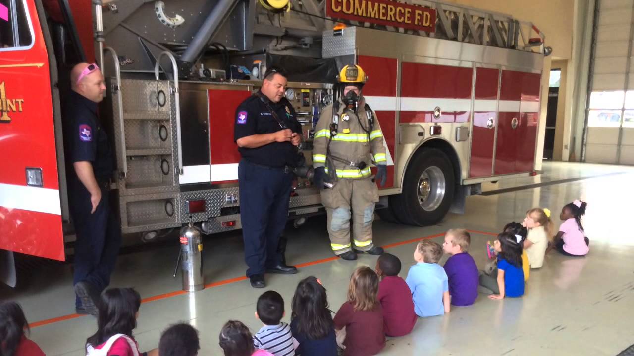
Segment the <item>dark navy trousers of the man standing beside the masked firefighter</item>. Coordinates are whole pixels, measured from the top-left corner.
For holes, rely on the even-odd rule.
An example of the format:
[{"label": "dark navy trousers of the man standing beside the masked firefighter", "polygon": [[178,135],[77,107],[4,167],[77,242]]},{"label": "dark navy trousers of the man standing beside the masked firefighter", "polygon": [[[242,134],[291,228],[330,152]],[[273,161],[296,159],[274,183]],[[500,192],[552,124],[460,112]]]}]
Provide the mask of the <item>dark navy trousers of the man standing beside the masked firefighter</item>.
[{"label": "dark navy trousers of the man standing beside the masked firefighter", "polygon": [[281,263],[280,236],[288,218],[292,172],[241,160],[238,165],[240,219],[247,277]]}]

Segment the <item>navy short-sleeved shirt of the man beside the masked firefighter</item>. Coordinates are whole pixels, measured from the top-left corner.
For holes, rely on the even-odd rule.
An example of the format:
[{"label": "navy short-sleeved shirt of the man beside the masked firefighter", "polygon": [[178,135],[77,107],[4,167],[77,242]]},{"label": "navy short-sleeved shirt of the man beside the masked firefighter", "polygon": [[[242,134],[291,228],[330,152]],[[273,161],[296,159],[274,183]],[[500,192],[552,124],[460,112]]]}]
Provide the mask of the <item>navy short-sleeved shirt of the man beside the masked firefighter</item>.
[{"label": "navy short-sleeved shirt of the man beside the masked firefighter", "polygon": [[[272,134],[282,130],[265,102],[271,106],[278,118],[283,120],[288,129],[298,134],[302,133],[302,127],[295,118],[295,110],[286,98],[282,98],[279,103],[273,103],[260,93],[260,96],[255,94],[250,96],[236,109],[233,141],[238,141],[242,137]],[[238,151],[242,158],[259,165],[269,167],[297,165],[297,148],[290,142],[274,142],[258,148],[238,148]]]}]

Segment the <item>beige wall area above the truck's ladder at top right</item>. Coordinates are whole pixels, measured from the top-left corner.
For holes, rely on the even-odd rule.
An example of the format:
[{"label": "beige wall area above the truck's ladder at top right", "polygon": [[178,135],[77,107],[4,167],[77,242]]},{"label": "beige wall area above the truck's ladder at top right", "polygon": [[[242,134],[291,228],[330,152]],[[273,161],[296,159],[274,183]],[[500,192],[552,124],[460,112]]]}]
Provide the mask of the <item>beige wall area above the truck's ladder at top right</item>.
[{"label": "beige wall area above the truck's ladder at top right", "polygon": [[533,24],[546,35],[555,59],[570,59],[573,42],[574,0],[447,0],[472,8],[505,13]]}]

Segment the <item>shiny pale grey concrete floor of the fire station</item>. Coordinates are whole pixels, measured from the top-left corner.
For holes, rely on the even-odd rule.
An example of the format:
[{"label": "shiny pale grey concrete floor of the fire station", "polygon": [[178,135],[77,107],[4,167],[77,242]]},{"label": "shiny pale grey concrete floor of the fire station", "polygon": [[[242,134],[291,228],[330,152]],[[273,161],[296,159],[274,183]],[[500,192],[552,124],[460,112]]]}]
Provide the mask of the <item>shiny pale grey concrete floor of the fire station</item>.
[{"label": "shiny pale grey concrete floor of the fire station", "polygon": [[[557,184],[573,178],[583,179]],[[490,234],[511,220],[521,220],[532,207],[548,207],[557,219],[561,207],[576,198],[588,201],[584,226],[592,241],[585,258],[550,253],[544,267],[531,272],[522,298],[489,300],[481,295],[470,307],[454,307],[450,314],[418,319],[410,335],[392,338],[380,354],[616,355],[633,344],[634,236],[629,227],[633,179],[632,167],[545,163],[543,174],[536,177],[484,184],[484,191],[491,195],[468,198],[464,215],[450,214],[437,226],[410,227],[377,220],[375,242],[401,258],[403,277],[413,264],[417,239],[437,236],[434,241],[441,242],[447,229],[469,229],[470,253],[482,267],[485,242],[493,239]],[[495,192],[542,182],[551,185]],[[376,257],[366,255],[356,262],[328,259],[332,254],[323,217],[311,218],[300,229],[288,227],[287,236],[288,262],[299,265],[300,272],[267,276],[267,289],[275,289],[285,298],[287,322],[290,299],[300,279],[319,277],[336,311],[345,300],[351,272],[376,262]],[[254,310],[263,290],[252,289],[248,281],[240,279],[245,270],[240,233],[209,236],[204,243],[208,286],[197,293],[172,293],[181,289],[180,276],[172,278],[176,243],[120,256],[112,286],[134,286],[148,298],[141,305],[135,330],[142,349],[156,347],[161,331],[170,324],[186,321],[200,331],[200,355],[221,355],[217,341],[224,322],[237,319],[252,331],[261,326],[254,319]],[[84,355],[84,342],[94,333],[96,321],[91,316],[73,315],[70,265],[44,262],[31,263],[28,268],[29,277],[18,288],[0,286],[1,298],[22,303],[27,319],[35,325],[31,338],[47,355]]]}]

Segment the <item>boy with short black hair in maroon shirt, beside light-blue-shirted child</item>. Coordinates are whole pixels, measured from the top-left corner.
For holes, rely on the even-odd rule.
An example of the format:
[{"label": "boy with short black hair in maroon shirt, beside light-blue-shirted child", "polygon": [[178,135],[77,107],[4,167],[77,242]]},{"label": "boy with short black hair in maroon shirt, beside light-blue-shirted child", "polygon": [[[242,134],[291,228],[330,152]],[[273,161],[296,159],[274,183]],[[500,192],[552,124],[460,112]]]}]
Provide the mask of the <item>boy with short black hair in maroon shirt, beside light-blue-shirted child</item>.
[{"label": "boy with short black hair in maroon shirt, beside light-blue-shirted child", "polygon": [[414,302],[410,287],[398,274],[401,260],[391,253],[384,253],[375,268],[378,283],[378,302],[383,308],[383,331],[387,336],[404,336],[411,333],[416,323]]}]

